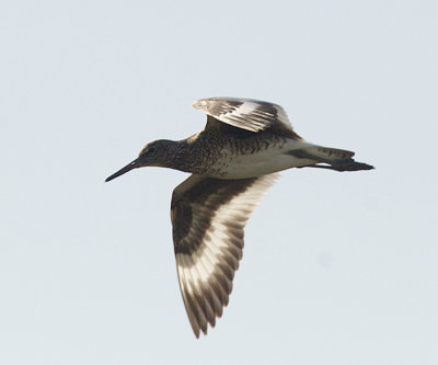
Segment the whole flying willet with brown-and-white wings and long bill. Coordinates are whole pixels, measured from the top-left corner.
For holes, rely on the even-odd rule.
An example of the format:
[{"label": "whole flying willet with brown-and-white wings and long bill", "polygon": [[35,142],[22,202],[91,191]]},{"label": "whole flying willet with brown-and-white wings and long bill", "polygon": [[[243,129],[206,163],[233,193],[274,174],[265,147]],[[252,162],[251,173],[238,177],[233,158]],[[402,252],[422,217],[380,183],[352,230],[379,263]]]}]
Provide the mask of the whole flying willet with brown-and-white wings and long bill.
[{"label": "whole flying willet with brown-and-white wings and long bill", "polygon": [[243,229],[262,196],[291,168],[373,169],[351,151],[306,141],[276,104],[234,98],[193,104],[207,125],[187,139],[155,140],[105,181],[132,169],[163,167],[191,172],[172,194],[171,220],[177,275],[195,335],[222,316],[243,250]]}]

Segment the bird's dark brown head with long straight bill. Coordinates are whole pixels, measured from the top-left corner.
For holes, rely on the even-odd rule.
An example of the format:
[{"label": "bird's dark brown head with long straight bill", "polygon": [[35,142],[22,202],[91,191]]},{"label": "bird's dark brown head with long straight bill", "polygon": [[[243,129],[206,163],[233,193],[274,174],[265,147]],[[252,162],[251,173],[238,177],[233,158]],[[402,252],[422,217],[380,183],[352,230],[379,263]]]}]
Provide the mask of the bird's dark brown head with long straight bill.
[{"label": "bird's dark brown head with long straight bill", "polygon": [[174,141],[166,139],[155,140],[153,142],[146,145],[141,149],[137,159],[135,159],[132,162],[128,163],[126,167],[118,170],[117,172],[113,173],[110,178],[105,180],[105,182],[112,181],[113,179],[118,178],[124,173],[138,168],[143,168],[148,166],[163,167],[163,168],[168,167],[169,160],[172,159],[173,156],[172,155],[173,145]]}]

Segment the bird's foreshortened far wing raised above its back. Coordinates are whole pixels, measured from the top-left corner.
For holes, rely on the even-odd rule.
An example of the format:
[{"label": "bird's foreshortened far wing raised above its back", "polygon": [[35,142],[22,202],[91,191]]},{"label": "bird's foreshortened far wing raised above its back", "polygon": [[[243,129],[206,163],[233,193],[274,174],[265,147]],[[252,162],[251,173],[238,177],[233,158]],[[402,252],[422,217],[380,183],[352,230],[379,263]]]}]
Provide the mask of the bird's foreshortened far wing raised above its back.
[{"label": "bird's foreshortened far wing raised above its back", "polygon": [[286,112],[277,104],[238,98],[210,98],[193,103],[216,119],[234,127],[258,132],[273,126],[292,130]]}]

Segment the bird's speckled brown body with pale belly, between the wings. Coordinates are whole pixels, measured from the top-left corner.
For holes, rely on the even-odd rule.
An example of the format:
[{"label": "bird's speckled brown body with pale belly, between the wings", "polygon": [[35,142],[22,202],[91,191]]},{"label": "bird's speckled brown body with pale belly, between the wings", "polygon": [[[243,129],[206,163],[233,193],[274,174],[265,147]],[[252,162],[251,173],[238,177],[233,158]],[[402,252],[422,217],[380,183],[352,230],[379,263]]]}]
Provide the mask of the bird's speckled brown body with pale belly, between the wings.
[{"label": "bird's speckled brown body with pale belly, between the wings", "polygon": [[[222,129],[235,127],[224,126]],[[289,151],[306,146],[270,132],[203,130],[177,142],[173,166],[177,170],[217,179],[246,179],[309,164]],[[196,161],[196,163],[193,163]]]}]

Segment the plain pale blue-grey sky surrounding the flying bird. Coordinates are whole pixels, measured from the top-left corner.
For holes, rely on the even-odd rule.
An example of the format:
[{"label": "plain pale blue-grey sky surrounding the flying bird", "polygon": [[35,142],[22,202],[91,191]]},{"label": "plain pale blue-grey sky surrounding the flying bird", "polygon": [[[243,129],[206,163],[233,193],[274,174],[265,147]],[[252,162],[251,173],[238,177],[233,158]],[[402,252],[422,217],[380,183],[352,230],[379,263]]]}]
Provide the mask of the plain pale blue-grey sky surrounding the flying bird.
[{"label": "plain pale blue-grey sky surrounding the flying bird", "polygon": [[[289,170],[195,340],[151,140],[273,101],[377,170]],[[436,1],[1,1],[0,364],[438,364]]]}]

